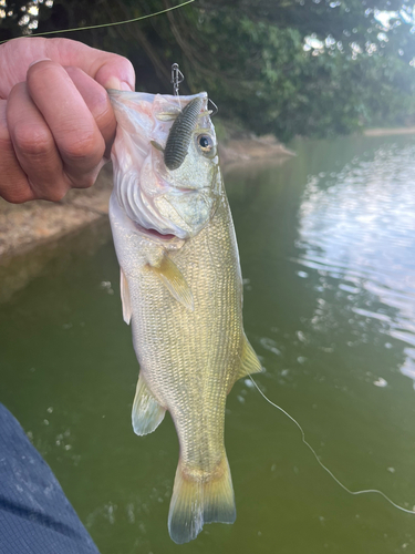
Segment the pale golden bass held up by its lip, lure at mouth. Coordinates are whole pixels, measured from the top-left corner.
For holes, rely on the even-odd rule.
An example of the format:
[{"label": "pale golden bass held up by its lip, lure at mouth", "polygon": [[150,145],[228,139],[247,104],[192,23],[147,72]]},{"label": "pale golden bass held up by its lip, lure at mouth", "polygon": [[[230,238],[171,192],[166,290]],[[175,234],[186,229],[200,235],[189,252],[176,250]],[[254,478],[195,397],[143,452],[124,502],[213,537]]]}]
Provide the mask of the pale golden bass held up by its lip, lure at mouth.
[{"label": "pale golden bass held up by its lip, lure at mouth", "polygon": [[123,317],[139,363],[132,422],[169,411],[179,460],[168,514],[178,544],[234,523],[226,398],[261,371],[242,324],[242,276],[206,92],[108,91],[117,120],[110,220]]}]

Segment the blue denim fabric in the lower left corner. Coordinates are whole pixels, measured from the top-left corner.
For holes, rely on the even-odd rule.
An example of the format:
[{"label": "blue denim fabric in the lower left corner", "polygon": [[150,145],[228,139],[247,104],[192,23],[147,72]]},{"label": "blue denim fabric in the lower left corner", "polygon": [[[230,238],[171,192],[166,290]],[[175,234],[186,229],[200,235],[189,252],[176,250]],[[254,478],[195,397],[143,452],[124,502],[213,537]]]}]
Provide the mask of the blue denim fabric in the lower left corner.
[{"label": "blue denim fabric in the lower left corner", "polygon": [[100,554],[46,462],[0,404],[0,554]]}]

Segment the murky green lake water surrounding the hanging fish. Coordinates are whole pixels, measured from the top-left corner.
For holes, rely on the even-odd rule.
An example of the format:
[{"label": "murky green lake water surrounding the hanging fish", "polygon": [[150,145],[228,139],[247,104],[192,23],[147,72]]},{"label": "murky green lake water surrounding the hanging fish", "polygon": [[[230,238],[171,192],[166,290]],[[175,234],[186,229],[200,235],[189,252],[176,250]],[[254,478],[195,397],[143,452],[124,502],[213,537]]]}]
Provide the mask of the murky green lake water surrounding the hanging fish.
[{"label": "murky green lake water surrounding the hanging fish", "polygon": [[[226,175],[247,335],[264,393],[352,490],[415,504],[415,138],[299,142],[284,164]],[[104,233],[104,232],[103,232]],[[238,517],[175,545],[178,445],[129,412],[137,362],[111,242],[92,230],[0,307],[0,400],[54,470],[103,554],[415,552],[415,516],[351,496],[250,381],[229,396]]]}]

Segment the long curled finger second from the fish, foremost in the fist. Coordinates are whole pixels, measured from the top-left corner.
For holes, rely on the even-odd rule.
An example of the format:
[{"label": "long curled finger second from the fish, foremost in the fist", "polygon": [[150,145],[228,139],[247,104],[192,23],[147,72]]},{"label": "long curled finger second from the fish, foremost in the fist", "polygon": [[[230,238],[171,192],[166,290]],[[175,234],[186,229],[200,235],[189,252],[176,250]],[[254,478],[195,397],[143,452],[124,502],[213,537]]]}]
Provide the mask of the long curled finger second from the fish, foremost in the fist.
[{"label": "long curled finger second from the fish, foremost in the fist", "polygon": [[104,138],[68,72],[52,61],[28,71],[28,92],[49,126],[74,187],[91,186],[102,165]]}]

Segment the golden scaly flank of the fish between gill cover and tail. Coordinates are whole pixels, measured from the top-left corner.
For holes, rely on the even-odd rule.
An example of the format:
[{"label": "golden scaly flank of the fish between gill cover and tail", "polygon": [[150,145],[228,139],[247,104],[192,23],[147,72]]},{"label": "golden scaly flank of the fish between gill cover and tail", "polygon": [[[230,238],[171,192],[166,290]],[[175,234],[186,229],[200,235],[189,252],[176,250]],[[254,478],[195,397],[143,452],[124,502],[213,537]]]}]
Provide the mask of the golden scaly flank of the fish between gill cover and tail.
[{"label": "golden scaly flank of the fish between gill cover and tail", "polygon": [[[207,471],[211,470],[211,460],[218,462],[215,452],[224,441],[224,414],[216,406],[217,398],[225,402],[242,346],[241,335],[235,332],[241,327],[240,274],[229,233],[224,233],[225,209],[225,206],[218,209],[212,224],[195,237],[191,252],[185,245],[172,255],[194,293],[193,312],[170,302],[168,290],[152,274],[129,286],[132,304],[139,307],[133,311],[132,324],[135,343],[144,345],[137,352],[143,375],[160,404],[172,413],[183,461],[197,465],[201,452]],[[232,274],[217,275],[222,263]],[[224,300],[218,302],[217,295]],[[235,308],[229,310],[229,305]],[[165,318],[159,318],[156,306],[164,307]],[[175,321],[173,329],[172,321]],[[195,412],[194,421],[189,412]],[[207,450],[198,448],[199,441],[206,442]],[[194,455],[193,445],[196,445]]]}]

